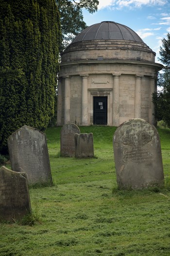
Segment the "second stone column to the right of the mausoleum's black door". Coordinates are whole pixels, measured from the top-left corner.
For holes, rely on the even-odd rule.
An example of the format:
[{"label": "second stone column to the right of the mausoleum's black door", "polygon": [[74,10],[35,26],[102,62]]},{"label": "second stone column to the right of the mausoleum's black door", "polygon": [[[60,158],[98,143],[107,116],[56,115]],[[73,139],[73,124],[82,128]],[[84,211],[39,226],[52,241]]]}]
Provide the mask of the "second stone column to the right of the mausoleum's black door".
[{"label": "second stone column to the right of the mausoleum's black door", "polygon": [[141,118],[141,77],[143,75],[136,75],[135,84],[135,118]]}]

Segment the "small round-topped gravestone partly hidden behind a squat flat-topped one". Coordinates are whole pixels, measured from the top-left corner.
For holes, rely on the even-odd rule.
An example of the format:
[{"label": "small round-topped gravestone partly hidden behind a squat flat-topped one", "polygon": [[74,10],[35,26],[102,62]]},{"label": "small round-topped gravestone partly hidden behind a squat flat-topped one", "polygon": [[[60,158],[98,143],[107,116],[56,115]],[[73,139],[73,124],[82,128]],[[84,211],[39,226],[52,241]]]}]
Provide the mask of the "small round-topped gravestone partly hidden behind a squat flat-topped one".
[{"label": "small round-topped gravestone partly hidden behind a squat flat-topped one", "polygon": [[75,157],[74,134],[80,133],[78,126],[74,124],[64,125],[60,134],[60,155],[63,157]]}]

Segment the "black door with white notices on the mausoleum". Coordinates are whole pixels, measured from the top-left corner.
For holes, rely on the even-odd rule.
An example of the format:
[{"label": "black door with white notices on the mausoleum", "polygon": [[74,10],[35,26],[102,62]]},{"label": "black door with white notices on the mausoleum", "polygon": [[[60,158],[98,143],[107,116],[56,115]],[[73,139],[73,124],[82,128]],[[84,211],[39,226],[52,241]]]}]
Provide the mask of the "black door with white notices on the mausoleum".
[{"label": "black door with white notices on the mausoleum", "polygon": [[107,125],[107,96],[93,97],[93,125]]}]

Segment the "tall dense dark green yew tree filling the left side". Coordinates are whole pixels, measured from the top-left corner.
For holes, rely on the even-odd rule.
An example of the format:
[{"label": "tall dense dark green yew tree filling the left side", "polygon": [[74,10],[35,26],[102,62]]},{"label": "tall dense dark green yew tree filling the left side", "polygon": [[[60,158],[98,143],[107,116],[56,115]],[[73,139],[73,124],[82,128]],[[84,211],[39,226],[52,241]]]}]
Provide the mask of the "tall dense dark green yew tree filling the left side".
[{"label": "tall dense dark green yew tree filling the left side", "polygon": [[45,130],[54,113],[61,44],[55,0],[0,1],[0,153],[23,125]]}]

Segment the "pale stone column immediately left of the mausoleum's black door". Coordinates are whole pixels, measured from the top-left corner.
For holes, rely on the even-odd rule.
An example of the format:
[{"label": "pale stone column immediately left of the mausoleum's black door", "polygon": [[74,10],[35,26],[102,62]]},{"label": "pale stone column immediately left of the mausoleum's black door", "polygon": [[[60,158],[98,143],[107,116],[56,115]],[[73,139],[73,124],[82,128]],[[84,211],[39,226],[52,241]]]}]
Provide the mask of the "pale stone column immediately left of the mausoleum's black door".
[{"label": "pale stone column immediately left of the mausoleum's black door", "polygon": [[82,76],[82,125],[88,125],[88,75]]}]

